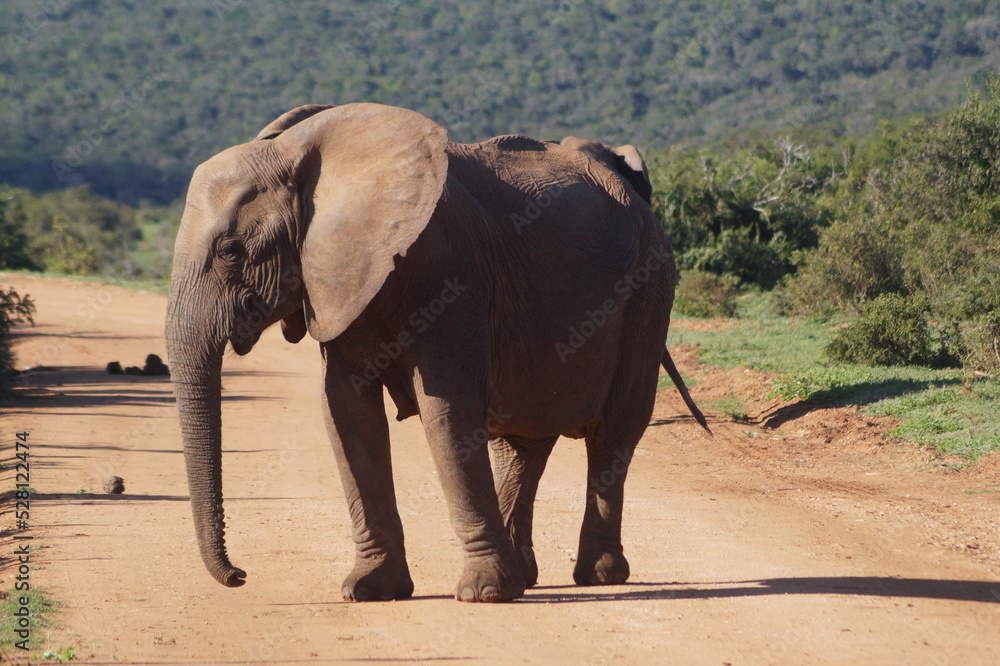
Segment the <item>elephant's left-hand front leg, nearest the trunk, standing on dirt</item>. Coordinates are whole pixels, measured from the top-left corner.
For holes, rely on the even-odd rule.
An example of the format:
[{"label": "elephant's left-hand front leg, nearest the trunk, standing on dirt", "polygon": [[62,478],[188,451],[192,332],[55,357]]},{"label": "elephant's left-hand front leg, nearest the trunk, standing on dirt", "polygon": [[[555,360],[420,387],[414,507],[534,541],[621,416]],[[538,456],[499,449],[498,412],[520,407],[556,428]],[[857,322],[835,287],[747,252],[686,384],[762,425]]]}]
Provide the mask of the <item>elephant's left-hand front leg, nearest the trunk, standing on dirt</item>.
[{"label": "elephant's left-hand front leg, nearest the trunk, standing on dirt", "polygon": [[325,345],[323,360],[327,430],[357,547],[354,570],[344,580],[344,598],[409,598],[413,580],[406,565],[403,525],[396,509],[382,385],[370,382],[365,386],[357,380],[352,384],[350,371]]}]

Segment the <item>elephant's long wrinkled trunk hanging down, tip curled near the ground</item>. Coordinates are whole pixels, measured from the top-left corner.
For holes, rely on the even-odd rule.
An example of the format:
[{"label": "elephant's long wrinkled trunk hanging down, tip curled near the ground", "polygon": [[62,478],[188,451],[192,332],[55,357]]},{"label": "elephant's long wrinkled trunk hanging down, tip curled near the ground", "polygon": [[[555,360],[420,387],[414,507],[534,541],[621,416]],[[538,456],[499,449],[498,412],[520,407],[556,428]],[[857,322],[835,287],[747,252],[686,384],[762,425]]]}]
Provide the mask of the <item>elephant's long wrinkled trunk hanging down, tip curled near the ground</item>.
[{"label": "elephant's long wrinkled trunk hanging down, tip curled near the ground", "polygon": [[[222,509],[222,353],[215,313],[193,313],[175,281],[167,306],[167,354],[180,413],[188,490],[201,559],[212,576],[239,587],[246,573],[226,554]],[[187,304],[185,305],[185,302]],[[207,310],[207,309],[206,309]]]}]

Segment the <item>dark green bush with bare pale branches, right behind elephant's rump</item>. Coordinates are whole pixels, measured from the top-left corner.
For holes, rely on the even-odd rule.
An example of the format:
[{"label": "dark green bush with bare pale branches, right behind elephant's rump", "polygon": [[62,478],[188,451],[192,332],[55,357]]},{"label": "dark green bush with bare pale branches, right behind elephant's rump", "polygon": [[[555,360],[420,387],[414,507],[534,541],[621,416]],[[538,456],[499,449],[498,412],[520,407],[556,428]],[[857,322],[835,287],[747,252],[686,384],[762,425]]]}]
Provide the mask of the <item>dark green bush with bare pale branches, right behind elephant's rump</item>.
[{"label": "dark green bush with bare pale branches, right behind elephant's rump", "polygon": [[675,149],[650,161],[653,208],[681,270],[771,289],[833,219],[842,174],[823,147],[758,140],[730,154]]}]

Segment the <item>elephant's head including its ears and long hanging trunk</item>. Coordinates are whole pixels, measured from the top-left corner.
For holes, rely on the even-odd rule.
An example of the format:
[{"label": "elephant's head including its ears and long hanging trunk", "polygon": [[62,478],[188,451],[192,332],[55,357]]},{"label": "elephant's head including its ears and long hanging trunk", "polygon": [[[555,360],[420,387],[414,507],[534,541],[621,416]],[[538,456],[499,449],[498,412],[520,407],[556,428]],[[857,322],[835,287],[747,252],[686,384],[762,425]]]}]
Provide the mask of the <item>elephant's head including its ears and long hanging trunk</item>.
[{"label": "elephant's head including its ears and long hanging trunk", "polygon": [[291,111],[198,167],[174,252],[166,338],[202,559],[224,585],[220,375],[281,321],[298,342],[339,335],[427,225],[447,133],[376,104]]}]

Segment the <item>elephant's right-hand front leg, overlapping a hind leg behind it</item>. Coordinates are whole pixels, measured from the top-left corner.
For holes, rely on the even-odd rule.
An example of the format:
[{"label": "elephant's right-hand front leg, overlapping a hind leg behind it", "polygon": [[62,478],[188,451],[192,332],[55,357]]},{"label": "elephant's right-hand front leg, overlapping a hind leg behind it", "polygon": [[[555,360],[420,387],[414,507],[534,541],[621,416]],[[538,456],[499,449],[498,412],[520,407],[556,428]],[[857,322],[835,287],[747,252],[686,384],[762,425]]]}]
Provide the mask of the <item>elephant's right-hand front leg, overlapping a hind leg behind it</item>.
[{"label": "elephant's right-hand front leg, overlapping a hind leg behind it", "polygon": [[462,402],[425,396],[420,406],[451,522],[467,555],[455,597],[510,601],[524,594],[524,572],[493,489],[485,408]]}]

